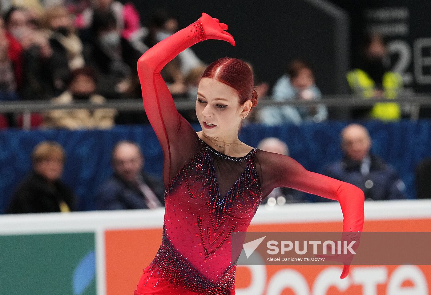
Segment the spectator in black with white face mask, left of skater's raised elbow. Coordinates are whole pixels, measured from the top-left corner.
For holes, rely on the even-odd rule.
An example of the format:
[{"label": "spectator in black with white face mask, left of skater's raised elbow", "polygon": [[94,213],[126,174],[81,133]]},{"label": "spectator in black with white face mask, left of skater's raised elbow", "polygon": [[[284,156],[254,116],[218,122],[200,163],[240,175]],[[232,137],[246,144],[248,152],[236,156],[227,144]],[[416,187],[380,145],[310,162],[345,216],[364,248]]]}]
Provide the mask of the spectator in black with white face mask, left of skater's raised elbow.
[{"label": "spectator in black with white face mask, left of skater's raised elbow", "polygon": [[110,11],[94,11],[92,31],[92,43],[84,44],[84,58],[97,73],[97,92],[106,98],[127,96],[141,52],[121,37]]}]

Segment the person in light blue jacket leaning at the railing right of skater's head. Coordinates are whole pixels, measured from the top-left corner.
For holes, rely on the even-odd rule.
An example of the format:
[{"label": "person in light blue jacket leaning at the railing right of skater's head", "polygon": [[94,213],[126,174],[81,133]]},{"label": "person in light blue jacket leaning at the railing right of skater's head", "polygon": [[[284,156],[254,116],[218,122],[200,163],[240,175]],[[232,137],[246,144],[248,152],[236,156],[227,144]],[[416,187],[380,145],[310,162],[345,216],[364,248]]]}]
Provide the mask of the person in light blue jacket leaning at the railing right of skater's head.
[{"label": "person in light blue jacket leaning at the railing right of skater's head", "polygon": [[[274,85],[272,95],[275,101],[320,100],[322,93],[315,85],[311,67],[301,60],[291,61],[287,74],[281,76]],[[266,125],[290,122],[299,125],[303,121],[319,123],[328,118],[324,104],[317,106],[269,106],[259,112],[259,120]]]}]

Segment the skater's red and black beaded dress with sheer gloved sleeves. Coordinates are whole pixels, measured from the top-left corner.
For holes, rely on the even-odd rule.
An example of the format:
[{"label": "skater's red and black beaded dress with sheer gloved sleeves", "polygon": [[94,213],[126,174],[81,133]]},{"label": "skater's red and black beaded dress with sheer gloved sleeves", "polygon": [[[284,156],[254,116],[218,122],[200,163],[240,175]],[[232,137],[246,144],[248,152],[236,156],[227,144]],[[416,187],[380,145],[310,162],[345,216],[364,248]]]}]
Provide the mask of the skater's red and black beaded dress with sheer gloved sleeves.
[{"label": "skater's red and black beaded dress with sheer gloved sleeves", "polygon": [[[234,44],[226,29],[227,25],[203,14],[138,61],[144,108],[165,158],[166,191],[162,243],[144,269],[135,295],[235,294],[231,232],[247,231],[259,204],[275,187],[338,200],[343,230],[362,230],[364,195],[358,187],[257,148],[244,157],[229,157],[202,141],[178,114],[160,71],[178,53],[202,40]],[[348,265],[343,274],[347,272]]]}]

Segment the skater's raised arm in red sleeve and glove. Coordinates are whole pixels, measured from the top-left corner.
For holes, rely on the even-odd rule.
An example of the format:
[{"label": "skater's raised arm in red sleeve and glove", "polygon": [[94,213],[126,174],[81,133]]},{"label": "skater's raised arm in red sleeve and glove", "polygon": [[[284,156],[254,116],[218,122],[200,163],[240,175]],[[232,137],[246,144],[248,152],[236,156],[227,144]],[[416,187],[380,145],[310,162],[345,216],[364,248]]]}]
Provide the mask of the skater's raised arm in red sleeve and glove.
[{"label": "skater's raised arm in red sleeve and glove", "polygon": [[196,22],[147,50],[137,63],[145,112],[162,146],[165,185],[189,160],[190,154],[194,154],[191,143],[196,141],[197,135],[190,124],[178,114],[160,71],[178,53],[200,41],[224,40],[235,46],[234,38],[224,31],[227,29],[228,25],[202,13],[202,17]]}]

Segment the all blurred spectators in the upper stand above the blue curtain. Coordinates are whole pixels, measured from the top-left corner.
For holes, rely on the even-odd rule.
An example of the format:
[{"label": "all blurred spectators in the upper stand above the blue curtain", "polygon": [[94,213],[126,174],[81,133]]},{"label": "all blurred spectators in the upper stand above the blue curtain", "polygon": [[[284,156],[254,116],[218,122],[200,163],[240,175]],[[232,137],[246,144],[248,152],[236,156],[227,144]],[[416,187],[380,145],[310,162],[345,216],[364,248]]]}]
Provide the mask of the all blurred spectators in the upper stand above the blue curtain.
[{"label": "all blurred spectators in the upper stand above the blue curtain", "polygon": [[[18,3],[12,1],[13,3]],[[0,18],[0,101],[47,100],[52,104],[90,102],[112,98],[139,98],[137,60],[151,46],[178,31],[169,12],[153,11],[142,26],[130,2],[116,0],[20,1],[3,8]],[[357,65],[346,74],[346,83],[362,98],[396,98],[403,89],[400,75],[389,70],[385,41],[367,36]],[[322,93],[307,61],[286,62],[286,70],[269,90],[257,83],[261,99],[319,101]],[[250,68],[253,69],[252,65]],[[205,63],[189,48],[163,69],[162,77],[175,99],[195,99]],[[182,114],[196,122],[194,111]],[[355,108],[353,119],[399,120],[397,103],[380,102]],[[250,121],[265,125],[321,122],[328,119],[325,104],[267,106],[258,108]],[[31,127],[108,129],[114,124],[145,123],[142,113],[100,109],[67,109],[31,114]],[[19,114],[0,114],[1,127],[21,127]]]}]

